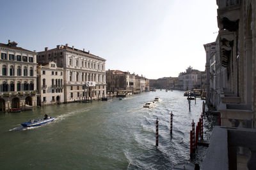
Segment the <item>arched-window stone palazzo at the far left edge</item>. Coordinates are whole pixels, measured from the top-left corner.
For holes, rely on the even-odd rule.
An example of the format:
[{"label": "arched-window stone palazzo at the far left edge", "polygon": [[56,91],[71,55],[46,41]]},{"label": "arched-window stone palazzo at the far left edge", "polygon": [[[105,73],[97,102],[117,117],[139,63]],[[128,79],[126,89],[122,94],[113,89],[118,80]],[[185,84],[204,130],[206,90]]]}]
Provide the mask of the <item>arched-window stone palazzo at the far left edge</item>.
[{"label": "arched-window stone palazzo at the far left edge", "polygon": [[36,104],[36,53],[0,43],[0,110]]}]

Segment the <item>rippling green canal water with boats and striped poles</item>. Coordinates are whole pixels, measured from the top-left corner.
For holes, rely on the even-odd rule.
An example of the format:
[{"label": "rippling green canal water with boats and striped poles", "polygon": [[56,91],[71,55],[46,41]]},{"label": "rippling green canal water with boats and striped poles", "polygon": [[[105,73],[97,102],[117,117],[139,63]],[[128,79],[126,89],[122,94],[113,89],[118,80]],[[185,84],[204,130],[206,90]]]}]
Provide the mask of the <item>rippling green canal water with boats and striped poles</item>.
[{"label": "rippling green canal water with boats and striped poles", "polygon": [[[21,113],[0,113],[1,169],[170,169],[180,162],[201,164],[206,148],[189,157],[189,131],[202,112],[202,100],[188,101],[184,92],[157,90],[123,100],[44,106]],[[154,108],[143,104],[154,97]],[[170,136],[170,112],[173,134]],[[41,127],[20,123],[44,114],[56,120]],[[159,146],[156,147],[156,118]],[[205,138],[213,117],[205,117]]]}]

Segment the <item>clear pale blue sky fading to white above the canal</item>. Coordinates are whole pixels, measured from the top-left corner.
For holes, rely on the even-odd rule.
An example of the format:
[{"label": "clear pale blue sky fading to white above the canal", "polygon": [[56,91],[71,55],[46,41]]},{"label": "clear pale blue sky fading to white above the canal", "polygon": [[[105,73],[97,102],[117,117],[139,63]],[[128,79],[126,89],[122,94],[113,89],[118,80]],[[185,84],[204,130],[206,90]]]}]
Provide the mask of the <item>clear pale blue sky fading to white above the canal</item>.
[{"label": "clear pale blue sky fading to white above the canal", "polygon": [[150,79],[205,70],[218,31],[216,0],[1,1],[0,43],[90,50],[106,69]]}]

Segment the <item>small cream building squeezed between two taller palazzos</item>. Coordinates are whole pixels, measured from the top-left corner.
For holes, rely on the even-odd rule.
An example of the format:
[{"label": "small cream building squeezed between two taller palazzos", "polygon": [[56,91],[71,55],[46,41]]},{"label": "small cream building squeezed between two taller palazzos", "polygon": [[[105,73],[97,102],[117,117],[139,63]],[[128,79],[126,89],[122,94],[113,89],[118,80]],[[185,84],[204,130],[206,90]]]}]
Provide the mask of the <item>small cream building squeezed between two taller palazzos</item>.
[{"label": "small cream building squeezed between two taller palazzos", "polygon": [[57,67],[56,62],[49,62],[37,67],[37,97],[39,106],[64,103],[63,67]]}]

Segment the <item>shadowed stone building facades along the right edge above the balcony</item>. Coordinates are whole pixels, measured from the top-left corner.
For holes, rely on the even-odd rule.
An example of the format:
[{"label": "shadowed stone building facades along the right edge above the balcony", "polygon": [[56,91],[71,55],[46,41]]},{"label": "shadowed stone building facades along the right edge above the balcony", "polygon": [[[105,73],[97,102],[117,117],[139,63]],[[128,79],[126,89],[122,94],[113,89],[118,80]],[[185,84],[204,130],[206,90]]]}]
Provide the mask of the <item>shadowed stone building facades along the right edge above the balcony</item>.
[{"label": "shadowed stone building facades along the right edge above the balcony", "polygon": [[207,100],[220,111],[221,125],[255,128],[256,2],[217,4],[220,31],[216,42],[205,45]]}]

